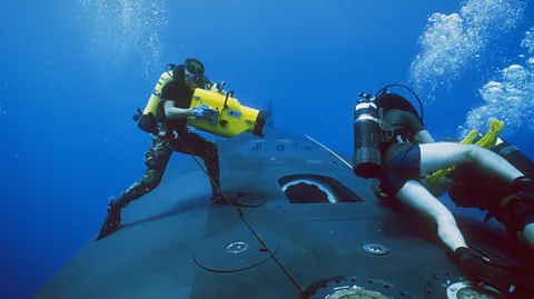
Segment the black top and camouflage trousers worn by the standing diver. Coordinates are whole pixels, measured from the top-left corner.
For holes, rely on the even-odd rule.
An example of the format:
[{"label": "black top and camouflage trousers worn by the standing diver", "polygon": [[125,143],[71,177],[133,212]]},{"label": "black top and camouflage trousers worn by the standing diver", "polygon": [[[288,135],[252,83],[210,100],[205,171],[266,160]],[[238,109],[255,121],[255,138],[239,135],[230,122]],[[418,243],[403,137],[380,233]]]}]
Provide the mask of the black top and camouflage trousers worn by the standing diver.
[{"label": "black top and camouflage trousers worn by the standing diver", "polygon": [[[194,90],[189,89],[184,81],[184,66],[174,69],[174,80],[168,82],[161,90],[159,114],[165,116],[165,101],[174,101],[175,107],[188,109],[191,103]],[[152,134],[152,146],[145,155],[147,170],[141,180],[135,182],[125,190],[118,199],[120,207],[127,206],[154,190],[161,181],[167,163],[174,151],[200,157],[207,168],[211,180],[212,197],[217,199],[219,185],[219,157],[215,143],[197,133],[189,132],[187,119],[164,120],[160,133]],[[216,185],[214,185],[214,181]]]}]

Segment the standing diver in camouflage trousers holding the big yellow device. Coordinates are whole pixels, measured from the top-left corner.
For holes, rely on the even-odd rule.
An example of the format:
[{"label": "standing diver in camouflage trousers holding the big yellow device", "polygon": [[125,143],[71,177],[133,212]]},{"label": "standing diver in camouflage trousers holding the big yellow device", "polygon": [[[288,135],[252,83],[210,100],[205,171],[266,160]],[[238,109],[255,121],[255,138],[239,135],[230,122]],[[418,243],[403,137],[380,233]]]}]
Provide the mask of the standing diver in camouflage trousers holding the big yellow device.
[{"label": "standing diver in camouflage trousers holding the big yellow device", "polygon": [[195,116],[204,118],[210,108],[201,104],[189,108],[196,88],[211,88],[214,82],[205,73],[204,64],[194,58],[186,59],[182,64],[169,64],[150,97],[146,110],[150,113],[138,114],[138,127],[151,133],[152,144],[145,155],[147,169],[140,181],[131,185],[118,199],[111,197],[108,203],[108,215],[98,239],[118,229],[120,212],[131,201],[152,191],[160,183],[167,163],[174,151],[199,156],[207,168],[211,183],[211,200],[220,202],[222,196],[219,187],[219,158],[216,144],[190,132],[187,118]]}]

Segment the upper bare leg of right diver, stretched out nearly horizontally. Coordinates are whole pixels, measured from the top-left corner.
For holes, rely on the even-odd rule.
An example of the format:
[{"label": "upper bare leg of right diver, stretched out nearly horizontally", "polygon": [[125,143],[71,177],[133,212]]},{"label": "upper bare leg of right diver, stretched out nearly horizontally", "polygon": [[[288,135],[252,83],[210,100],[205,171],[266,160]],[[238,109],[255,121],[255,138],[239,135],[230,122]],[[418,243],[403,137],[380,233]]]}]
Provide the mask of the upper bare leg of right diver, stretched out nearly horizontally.
[{"label": "upper bare leg of right diver, stretched out nearly horizontally", "polygon": [[454,142],[423,143],[421,148],[421,171],[431,172],[453,166],[474,162],[487,173],[512,182],[524,176],[497,153],[474,144]]}]

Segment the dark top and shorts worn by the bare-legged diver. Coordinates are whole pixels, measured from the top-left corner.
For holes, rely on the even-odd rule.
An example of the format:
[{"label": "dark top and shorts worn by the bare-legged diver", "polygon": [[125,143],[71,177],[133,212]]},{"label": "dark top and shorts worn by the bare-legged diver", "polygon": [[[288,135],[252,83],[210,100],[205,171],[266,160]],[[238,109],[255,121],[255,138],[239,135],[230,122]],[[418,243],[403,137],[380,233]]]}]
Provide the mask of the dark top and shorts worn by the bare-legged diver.
[{"label": "dark top and shorts worn by the bare-legged diver", "polygon": [[394,131],[389,141],[380,146],[387,171],[386,178],[380,180],[380,188],[395,196],[406,181],[421,175],[421,150],[414,143],[414,136],[425,130],[425,126],[412,112],[398,109],[386,111],[384,120]]}]

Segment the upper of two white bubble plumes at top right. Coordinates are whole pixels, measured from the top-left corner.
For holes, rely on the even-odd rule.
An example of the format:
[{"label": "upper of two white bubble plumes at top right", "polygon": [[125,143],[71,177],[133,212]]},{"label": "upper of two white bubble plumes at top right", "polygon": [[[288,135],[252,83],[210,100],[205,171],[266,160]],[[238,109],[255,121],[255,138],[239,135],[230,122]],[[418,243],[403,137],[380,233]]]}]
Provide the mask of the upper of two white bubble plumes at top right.
[{"label": "upper of two white bubble plumes at top right", "polygon": [[412,62],[411,84],[426,101],[462,77],[492,39],[518,23],[523,0],[469,0],[459,13],[434,13],[419,37],[421,54]]}]

